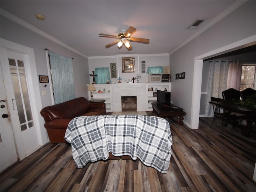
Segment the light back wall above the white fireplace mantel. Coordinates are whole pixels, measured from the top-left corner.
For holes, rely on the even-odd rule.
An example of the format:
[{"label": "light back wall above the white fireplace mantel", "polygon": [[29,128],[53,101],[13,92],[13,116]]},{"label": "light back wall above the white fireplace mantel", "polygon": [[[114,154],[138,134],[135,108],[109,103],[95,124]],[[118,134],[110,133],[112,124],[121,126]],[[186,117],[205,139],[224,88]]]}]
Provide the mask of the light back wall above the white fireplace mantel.
[{"label": "light back wall above the white fireplace mantel", "polygon": [[[123,73],[122,72],[122,57],[134,57],[135,59],[135,72],[134,73]],[[95,68],[98,67],[108,67],[110,68],[110,63],[116,63],[116,77],[112,78],[112,83],[118,83],[118,78],[120,77],[122,83],[125,80],[132,79],[136,77],[137,74],[141,76],[140,83],[148,82],[147,69],[148,66],[169,66],[169,54],[125,54],[125,55],[115,55],[115,56],[100,56],[100,57],[89,57],[89,71],[92,74]],[[141,62],[146,62],[146,72],[141,72]],[[92,83],[93,77],[90,77],[90,83]],[[137,83],[137,81],[134,81]]]}]

